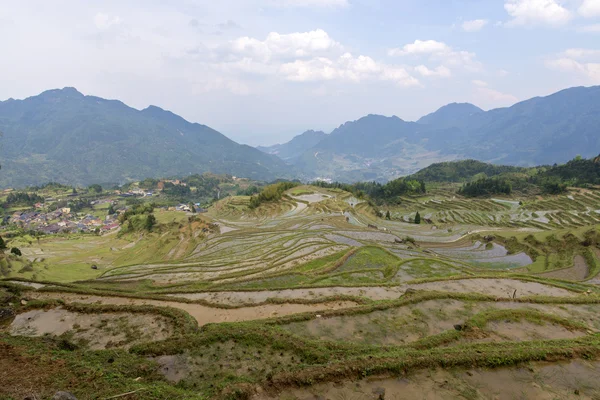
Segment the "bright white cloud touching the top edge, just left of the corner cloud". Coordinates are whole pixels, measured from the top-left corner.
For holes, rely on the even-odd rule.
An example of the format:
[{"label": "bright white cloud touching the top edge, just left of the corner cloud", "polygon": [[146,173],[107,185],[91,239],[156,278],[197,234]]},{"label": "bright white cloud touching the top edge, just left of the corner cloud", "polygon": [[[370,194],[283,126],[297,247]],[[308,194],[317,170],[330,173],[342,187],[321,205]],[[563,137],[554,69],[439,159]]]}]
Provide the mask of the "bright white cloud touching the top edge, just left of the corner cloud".
[{"label": "bright white cloud touching the top edge, just left of the corner cloud", "polygon": [[564,25],[571,19],[556,0],[505,0],[504,9],[512,17],[508,25]]}]

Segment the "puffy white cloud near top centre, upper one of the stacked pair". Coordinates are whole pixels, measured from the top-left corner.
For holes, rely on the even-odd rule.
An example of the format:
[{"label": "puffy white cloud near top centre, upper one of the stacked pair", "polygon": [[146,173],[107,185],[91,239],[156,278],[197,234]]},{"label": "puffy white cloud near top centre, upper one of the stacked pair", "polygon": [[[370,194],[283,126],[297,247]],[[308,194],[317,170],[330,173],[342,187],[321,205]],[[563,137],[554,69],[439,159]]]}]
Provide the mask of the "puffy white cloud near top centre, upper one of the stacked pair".
[{"label": "puffy white cloud near top centre, upper one of the stacked pair", "polygon": [[341,45],[322,29],[289,34],[271,32],[263,41],[245,36],[231,42],[234,53],[263,60],[272,57],[304,58],[333,49],[341,49]]}]

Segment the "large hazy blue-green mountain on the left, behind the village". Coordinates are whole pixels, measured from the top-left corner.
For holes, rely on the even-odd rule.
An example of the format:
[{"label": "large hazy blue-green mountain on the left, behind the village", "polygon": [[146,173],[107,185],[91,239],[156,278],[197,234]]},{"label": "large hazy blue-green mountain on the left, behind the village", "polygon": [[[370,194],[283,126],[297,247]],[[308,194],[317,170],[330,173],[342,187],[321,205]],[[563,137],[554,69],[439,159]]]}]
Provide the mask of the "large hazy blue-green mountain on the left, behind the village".
[{"label": "large hazy blue-green mountain on the left, behind the village", "polygon": [[86,185],[211,171],[271,180],[282,160],[156,106],[136,110],[74,88],[0,102],[0,186]]}]

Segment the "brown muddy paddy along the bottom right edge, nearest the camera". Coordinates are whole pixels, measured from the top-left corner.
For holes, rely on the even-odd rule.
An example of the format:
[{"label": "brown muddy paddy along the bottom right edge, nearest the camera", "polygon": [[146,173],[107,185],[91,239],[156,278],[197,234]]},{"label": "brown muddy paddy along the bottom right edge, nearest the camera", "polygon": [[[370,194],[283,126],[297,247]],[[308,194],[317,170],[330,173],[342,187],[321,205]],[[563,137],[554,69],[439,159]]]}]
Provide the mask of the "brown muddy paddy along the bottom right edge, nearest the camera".
[{"label": "brown muddy paddy along the bottom right edge, nearest the camera", "polygon": [[[313,399],[597,399],[600,362],[531,363],[527,368],[431,370],[406,377],[364,379],[258,393],[254,400]],[[380,397],[383,395],[383,397]]]}]

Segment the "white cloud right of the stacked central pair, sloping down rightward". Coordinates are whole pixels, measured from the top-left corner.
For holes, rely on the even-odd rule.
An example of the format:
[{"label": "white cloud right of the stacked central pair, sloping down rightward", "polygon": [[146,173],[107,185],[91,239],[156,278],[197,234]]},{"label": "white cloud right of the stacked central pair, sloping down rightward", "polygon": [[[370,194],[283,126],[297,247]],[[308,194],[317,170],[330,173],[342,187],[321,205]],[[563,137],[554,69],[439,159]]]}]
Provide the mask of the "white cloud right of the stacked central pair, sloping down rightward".
[{"label": "white cloud right of the stacked central pair, sloping down rightward", "polygon": [[426,56],[433,61],[439,61],[447,67],[464,68],[468,71],[479,71],[481,63],[476,60],[475,53],[456,51],[444,42],[435,40],[415,40],[401,48],[388,50],[390,56]]}]

